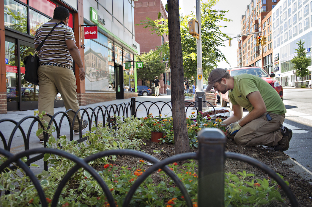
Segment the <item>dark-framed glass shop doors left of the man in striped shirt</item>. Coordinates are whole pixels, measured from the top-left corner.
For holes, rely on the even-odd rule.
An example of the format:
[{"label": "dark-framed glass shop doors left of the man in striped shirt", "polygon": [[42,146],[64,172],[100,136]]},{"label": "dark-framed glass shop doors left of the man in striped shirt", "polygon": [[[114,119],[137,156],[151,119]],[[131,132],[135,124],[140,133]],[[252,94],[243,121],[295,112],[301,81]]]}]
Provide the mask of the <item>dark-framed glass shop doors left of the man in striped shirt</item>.
[{"label": "dark-framed glass shop doors left of the man in striped shirt", "polygon": [[[39,86],[24,80],[24,57],[34,53],[34,44],[20,39],[5,38],[7,111],[38,108]],[[63,106],[62,100],[58,100],[54,104],[54,107]]]}]

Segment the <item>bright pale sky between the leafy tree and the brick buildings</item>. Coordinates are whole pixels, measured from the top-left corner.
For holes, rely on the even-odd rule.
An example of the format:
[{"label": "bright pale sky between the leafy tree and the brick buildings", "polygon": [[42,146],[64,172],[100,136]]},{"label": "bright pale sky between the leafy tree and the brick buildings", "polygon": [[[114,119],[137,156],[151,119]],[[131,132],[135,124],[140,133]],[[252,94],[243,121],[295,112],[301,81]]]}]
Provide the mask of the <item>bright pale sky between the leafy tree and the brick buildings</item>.
[{"label": "bright pale sky between the leafy tree and the brick buildings", "polygon": [[[161,0],[165,5],[167,0]],[[207,2],[207,1],[203,1]],[[229,10],[227,12],[226,17],[231,19],[232,22],[221,22],[222,25],[226,25],[226,28],[221,28],[223,33],[228,34],[230,37],[236,37],[237,34],[241,32],[241,16],[245,14],[247,5],[251,2],[251,0],[219,0],[217,5],[213,7],[213,9],[220,10]],[[190,14],[191,11],[196,11],[194,8],[196,6],[196,0],[179,0],[179,7],[181,7],[181,13],[183,15]],[[227,60],[230,62],[230,65],[225,61],[222,61],[218,64],[218,67],[221,68],[229,68],[229,67],[237,67],[237,58],[236,58],[236,49],[238,48],[237,38],[232,40],[232,46],[228,46],[228,41],[224,42],[226,47],[220,47],[219,49],[224,53]]]}]

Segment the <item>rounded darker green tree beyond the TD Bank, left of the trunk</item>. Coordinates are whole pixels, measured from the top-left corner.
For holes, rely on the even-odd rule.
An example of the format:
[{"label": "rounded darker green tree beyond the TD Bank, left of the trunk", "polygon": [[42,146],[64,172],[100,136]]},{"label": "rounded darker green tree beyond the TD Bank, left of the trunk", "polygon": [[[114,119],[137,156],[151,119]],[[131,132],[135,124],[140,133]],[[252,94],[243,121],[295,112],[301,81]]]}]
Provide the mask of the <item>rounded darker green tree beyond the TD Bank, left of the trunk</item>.
[{"label": "rounded darker green tree beyond the TD Bank, left of the trunk", "polygon": [[165,64],[162,62],[162,57],[159,51],[150,51],[137,56],[138,61],[143,61],[143,68],[137,68],[137,77],[144,84],[154,80],[155,76],[160,76],[164,72]]}]

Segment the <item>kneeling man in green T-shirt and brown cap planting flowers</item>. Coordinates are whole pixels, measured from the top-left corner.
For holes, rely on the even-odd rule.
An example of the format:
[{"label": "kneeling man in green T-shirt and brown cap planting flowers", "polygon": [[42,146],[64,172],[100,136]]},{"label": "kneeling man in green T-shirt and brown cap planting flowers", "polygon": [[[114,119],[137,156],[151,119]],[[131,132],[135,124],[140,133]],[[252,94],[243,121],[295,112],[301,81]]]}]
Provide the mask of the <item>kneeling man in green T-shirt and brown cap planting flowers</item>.
[{"label": "kneeling man in green T-shirt and brown cap planting flowers", "polygon": [[[289,148],[292,131],[283,126],[286,108],[276,90],[258,76],[241,74],[230,76],[222,68],[211,71],[209,85],[225,94],[233,104],[233,115],[223,122],[227,137],[243,146],[273,146],[275,151]],[[243,108],[249,113],[243,117]]]}]

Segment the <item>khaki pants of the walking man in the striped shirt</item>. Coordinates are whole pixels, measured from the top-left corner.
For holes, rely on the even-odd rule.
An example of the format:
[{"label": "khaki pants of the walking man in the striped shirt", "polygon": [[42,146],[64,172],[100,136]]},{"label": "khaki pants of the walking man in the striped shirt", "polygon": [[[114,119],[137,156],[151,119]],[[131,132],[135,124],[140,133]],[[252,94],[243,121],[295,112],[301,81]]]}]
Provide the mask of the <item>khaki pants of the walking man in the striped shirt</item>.
[{"label": "khaki pants of the walking man in the striped shirt", "polygon": [[[77,100],[76,91],[76,77],[74,71],[68,68],[42,65],[38,68],[38,79],[39,79],[39,101],[38,110],[46,111],[53,116],[54,114],[54,99],[56,94],[60,92],[66,110],[73,109],[74,111],[79,110],[79,103]],[[75,113],[69,112],[68,116],[72,122]],[[80,113],[78,114],[79,120],[81,118]],[[43,116],[43,119],[50,122],[51,118]],[[64,119],[64,121],[66,118]],[[38,124],[38,128],[41,128]],[[75,119],[74,130],[79,129],[78,119]],[[39,136],[43,138],[43,134]]]}]

